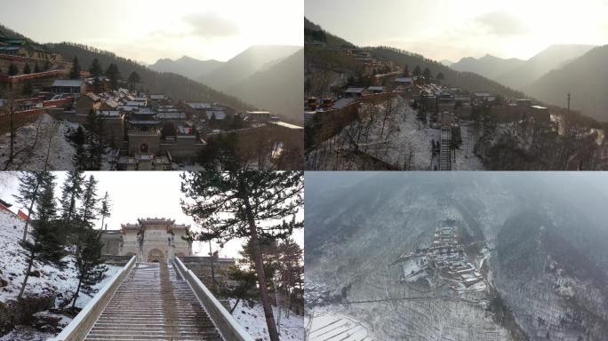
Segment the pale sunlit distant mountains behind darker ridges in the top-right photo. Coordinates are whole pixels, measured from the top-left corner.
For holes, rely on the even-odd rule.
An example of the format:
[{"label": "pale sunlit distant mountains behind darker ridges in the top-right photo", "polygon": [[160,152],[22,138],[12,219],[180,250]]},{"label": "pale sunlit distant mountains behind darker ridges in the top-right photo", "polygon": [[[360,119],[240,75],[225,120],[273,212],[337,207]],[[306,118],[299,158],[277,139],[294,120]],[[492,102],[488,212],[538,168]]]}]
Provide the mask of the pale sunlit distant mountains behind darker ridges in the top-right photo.
[{"label": "pale sunlit distant mountains behind darker ridges in the top-right photo", "polygon": [[473,57],[460,59],[452,64],[452,68],[484,75],[508,87],[524,90],[541,75],[556,67],[564,66],[593,48],[593,45],[556,44],[527,60],[502,59],[486,54],[479,59]]}]

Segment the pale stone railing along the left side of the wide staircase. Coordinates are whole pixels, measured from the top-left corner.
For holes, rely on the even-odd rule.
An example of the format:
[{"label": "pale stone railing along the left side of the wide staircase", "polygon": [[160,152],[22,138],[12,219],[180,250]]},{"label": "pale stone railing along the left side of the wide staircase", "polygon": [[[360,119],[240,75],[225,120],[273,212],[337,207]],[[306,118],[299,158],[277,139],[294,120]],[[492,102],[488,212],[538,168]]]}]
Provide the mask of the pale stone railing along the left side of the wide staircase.
[{"label": "pale stone railing along the left side of the wide staircase", "polygon": [[84,306],[66,328],[61,330],[57,337],[48,338],[47,341],[81,341],[92,329],[95,321],[100,317],[103,309],[108,305],[109,300],[114,296],[124,278],[131,272],[135,266],[135,257],[133,256],[129,263],[124,268],[116,273],[108,284],[100,289],[100,291],[92,297],[91,301]]}]

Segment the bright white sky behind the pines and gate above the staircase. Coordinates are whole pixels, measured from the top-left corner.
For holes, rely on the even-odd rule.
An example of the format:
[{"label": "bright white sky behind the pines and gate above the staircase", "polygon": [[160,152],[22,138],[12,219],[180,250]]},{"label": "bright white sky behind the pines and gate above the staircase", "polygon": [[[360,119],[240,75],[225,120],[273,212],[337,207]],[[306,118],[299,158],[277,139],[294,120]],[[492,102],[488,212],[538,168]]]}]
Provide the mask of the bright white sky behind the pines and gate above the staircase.
[{"label": "bright white sky behind the pines and gate above the staircase", "polygon": [[[2,172],[0,177],[0,199],[16,205],[12,194],[17,193],[18,183],[14,178],[18,172]],[[11,174],[8,178],[6,174]],[[55,172],[58,176],[57,188],[60,195],[60,184],[65,178],[65,172]],[[91,173],[86,173],[87,177]],[[112,201],[111,217],[106,218],[104,224],[108,229],[118,230],[121,224],[137,223],[138,218],[172,218],[176,224],[190,224],[196,228],[196,224],[181,211],[180,198],[184,196],[180,192],[180,172],[152,172],[152,171],[101,171],[92,173],[99,180],[98,194],[108,191]],[[300,214],[303,217],[303,212]],[[101,226],[101,219],[97,228]],[[303,231],[296,231],[293,238],[300,246],[304,245]],[[220,250],[220,256],[238,257],[243,241],[228,242],[224,249]],[[196,243],[195,252],[209,252],[209,244]],[[213,250],[217,246],[213,245]]]}]

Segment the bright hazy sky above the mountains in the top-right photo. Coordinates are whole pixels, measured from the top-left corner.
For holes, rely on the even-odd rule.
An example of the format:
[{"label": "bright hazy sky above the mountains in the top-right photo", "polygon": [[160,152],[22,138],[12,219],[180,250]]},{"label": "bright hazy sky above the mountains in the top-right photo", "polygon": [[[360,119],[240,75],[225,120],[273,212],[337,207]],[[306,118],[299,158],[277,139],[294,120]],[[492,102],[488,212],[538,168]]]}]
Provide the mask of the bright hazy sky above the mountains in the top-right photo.
[{"label": "bright hazy sky above the mountains in the top-right photo", "polygon": [[430,59],[529,59],[550,44],[608,44],[608,0],[305,0],[308,20],[353,44]]}]

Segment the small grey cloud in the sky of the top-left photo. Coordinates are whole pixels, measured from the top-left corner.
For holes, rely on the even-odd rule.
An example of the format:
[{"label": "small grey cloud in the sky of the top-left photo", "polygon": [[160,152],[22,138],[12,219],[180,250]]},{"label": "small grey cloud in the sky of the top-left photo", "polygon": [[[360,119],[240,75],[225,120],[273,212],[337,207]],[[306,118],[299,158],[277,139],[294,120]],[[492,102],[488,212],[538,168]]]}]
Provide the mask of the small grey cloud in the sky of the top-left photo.
[{"label": "small grey cloud in the sky of the top-left photo", "polygon": [[240,33],[234,21],[222,18],[213,12],[188,14],[183,17],[183,20],[192,28],[193,36],[213,38],[236,36]]}]

